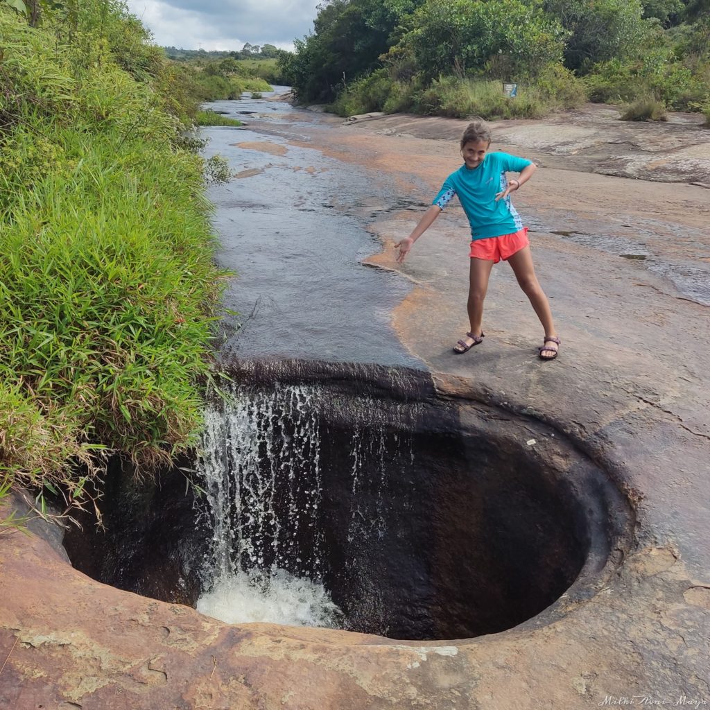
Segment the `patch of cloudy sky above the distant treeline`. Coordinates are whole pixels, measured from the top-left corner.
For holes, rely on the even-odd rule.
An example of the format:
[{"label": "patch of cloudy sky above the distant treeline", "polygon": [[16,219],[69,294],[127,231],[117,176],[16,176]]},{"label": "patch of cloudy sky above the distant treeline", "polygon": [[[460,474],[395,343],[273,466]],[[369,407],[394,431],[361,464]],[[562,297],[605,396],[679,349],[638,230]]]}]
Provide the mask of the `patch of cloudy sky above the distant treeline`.
[{"label": "patch of cloudy sky above the distant treeline", "polygon": [[128,0],[155,43],[183,49],[241,50],[266,43],[293,50],[313,28],[321,0]]}]

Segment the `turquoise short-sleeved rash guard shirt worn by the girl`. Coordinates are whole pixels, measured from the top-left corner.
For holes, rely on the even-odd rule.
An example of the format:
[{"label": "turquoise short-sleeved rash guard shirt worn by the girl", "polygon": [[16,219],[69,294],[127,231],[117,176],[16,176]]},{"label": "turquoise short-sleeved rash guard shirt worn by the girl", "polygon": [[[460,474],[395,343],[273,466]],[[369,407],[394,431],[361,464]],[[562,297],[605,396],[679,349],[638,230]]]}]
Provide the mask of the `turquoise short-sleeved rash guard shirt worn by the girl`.
[{"label": "turquoise short-sleeved rash guard shirt worn by the girl", "polygon": [[496,195],[508,187],[506,172],[520,173],[530,163],[531,160],[508,153],[486,153],[477,168],[466,168],[464,164],[449,175],[432,204],[444,209],[457,195],[469,218],[471,241],[513,234],[523,229],[523,221],[513,207],[510,195],[498,202]]}]

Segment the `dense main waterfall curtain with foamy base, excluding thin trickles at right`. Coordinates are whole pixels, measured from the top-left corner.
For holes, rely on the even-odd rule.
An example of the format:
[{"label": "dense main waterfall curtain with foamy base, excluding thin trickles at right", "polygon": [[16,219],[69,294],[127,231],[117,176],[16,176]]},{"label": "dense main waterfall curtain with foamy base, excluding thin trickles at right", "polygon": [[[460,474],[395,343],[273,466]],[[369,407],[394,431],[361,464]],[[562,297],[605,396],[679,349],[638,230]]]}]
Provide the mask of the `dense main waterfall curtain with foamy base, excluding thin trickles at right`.
[{"label": "dense main waterfall curtain with foamy base, excluding thin trickles at right", "polygon": [[205,415],[199,469],[214,534],[198,610],[230,622],[337,626],[322,585],[315,388],[231,388]]}]

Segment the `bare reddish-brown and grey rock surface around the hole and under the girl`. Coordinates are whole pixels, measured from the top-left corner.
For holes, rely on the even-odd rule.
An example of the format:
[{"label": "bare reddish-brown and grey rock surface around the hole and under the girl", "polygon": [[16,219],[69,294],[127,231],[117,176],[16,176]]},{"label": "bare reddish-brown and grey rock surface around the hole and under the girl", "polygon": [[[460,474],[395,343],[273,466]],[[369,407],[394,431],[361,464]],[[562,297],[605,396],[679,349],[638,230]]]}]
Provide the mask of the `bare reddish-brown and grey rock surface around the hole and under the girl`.
[{"label": "bare reddish-brown and grey rock surface around the hole and under the girl", "polygon": [[[710,705],[710,310],[698,302],[702,279],[697,295],[677,269],[652,271],[591,239],[623,237],[655,263],[694,266],[702,275],[710,263],[708,193],[588,172],[652,172],[674,180],[680,166],[683,180],[708,182],[710,133],[663,126],[655,165],[645,142],[655,126],[610,127],[601,116],[590,129],[584,121],[594,123],[594,116],[494,126],[497,148],[543,165],[514,199],[535,227],[537,272],[562,337],[558,359],[547,363],[535,359],[542,333],[505,265],[491,279],[484,344],[452,354],[468,329],[460,212],[444,214],[402,266],[393,259],[393,242],[408,234],[442,178],[459,165],[464,122],[328,119],[312,124],[308,144],[371,166],[410,202],[395,210],[364,204],[359,216],[383,243],[369,263],[413,283],[393,324],[439,391],[539,418],[606,469],[632,501],[635,545],[603,589],[553,623],[533,619],[474,640],[393,642],[319,629],[228,626],[185,606],[103,586],[72,569],[42,538],[18,533],[0,540],[0,707]],[[279,130],[288,135],[288,126],[265,128]],[[623,160],[608,149],[594,157],[594,136],[612,145],[610,131],[624,144]],[[669,136],[677,141],[669,143]],[[575,144],[584,154],[574,153]]]}]

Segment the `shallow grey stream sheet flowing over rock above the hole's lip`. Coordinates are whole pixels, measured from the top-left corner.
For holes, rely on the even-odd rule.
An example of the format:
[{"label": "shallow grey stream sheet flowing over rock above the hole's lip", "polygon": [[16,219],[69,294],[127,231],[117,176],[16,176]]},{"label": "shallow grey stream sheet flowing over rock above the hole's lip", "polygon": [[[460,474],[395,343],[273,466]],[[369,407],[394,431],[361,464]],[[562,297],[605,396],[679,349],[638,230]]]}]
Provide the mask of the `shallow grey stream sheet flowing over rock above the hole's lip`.
[{"label": "shallow grey stream sheet flowing over rock above the hole's lip", "polygon": [[[381,244],[352,216],[364,196],[397,204],[393,186],[296,145],[308,141],[299,121],[309,114],[294,119],[290,104],[241,99],[210,106],[238,119],[258,117],[260,126],[204,131],[207,155],[222,155],[236,175],[209,194],[217,258],[236,274],[224,297],[237,315],[225,320],[234,332],[223,352],[422,368],[390,324],[410,283],[364,265]],[[242,113],[249,110],[258,116]]]}]

